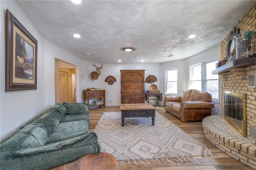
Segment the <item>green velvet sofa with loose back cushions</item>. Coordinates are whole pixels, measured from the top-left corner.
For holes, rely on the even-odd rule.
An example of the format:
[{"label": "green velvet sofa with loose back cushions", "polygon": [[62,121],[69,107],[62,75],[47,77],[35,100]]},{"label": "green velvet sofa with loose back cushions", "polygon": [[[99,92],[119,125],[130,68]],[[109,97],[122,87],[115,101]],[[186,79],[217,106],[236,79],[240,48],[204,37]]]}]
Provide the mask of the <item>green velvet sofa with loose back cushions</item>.
[{"label": "green velvet sofa with loose back cushions", "polygon": [[47,170],[100,152],[86,103],[57,103],[0,144],[1,170]]}]

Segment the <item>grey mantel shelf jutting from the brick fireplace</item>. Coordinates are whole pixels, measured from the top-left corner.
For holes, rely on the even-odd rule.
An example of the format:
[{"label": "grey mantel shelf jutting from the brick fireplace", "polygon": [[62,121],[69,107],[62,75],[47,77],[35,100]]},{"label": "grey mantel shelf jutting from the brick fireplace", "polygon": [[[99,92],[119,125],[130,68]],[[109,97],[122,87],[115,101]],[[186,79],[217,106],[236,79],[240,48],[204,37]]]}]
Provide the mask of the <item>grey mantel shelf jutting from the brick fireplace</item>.
[{"label": "grey mantel shelf jutting from the brick fireplace", "polygon": [[235,68],[235,67],[247,67],[247,66],[254,65],[254,64],[256,64],[256,57],[237,59],[237,60],[230,61],[230,62],[220,66],[219,68],[212,71],[212,74],[228,72],[232,68]]}]

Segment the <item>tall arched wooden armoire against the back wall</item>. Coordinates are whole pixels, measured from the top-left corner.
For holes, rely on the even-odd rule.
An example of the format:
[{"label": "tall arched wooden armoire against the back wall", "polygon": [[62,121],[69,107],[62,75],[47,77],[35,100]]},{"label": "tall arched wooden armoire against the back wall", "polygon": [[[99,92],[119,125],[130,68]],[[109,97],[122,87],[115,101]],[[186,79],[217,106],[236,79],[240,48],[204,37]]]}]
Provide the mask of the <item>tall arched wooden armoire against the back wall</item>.
[{"label": "tall arched wooden armoire against the back wall", "polygon": [[145,70],[121,71],[121,103],[145,103]]}]

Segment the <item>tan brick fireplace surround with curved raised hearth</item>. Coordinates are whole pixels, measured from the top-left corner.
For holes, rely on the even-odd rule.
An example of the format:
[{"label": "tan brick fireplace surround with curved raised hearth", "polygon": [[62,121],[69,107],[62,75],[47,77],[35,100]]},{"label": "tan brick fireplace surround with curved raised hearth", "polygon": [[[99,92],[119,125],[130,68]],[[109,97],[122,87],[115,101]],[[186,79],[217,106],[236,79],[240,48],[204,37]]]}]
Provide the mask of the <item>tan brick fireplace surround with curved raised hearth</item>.
[{"label": "tan brick fireplace surround with curved raised hearth", "polygon": [[[234,27],[239,28],[240,33],[248,30],[254,31],[253,53],[256,53],[256,1]],[[227,40],[229,37],[230,34],[226,36],[220,45],[221,60],[225,60]],[[237,63],[237,61],[233,63]],[[202,124],[204,134],[212,144],[230,156],[256,169],[256,89],[248,87],[248,75],[256,73],[256,57],[250,57],[250,61],[247,63],[250,64],[241,64],[238,67],[234,67],[228,63],[226,65],[231,65],[229,69],[218,72],[221,81],[221,115],[206,117]],[[245,134],[240,134],[236,128],[232,127],[224,119],[226,109],[225,91],[245,95]]]}]

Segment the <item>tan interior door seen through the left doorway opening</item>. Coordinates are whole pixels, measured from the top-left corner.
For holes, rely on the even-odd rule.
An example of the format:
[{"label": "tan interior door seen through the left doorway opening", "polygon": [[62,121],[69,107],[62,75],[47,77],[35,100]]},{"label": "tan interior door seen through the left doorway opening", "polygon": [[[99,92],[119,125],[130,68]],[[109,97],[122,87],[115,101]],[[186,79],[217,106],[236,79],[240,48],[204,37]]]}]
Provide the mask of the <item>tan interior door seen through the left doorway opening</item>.
[{"label": "tan interior door seen through the left doorway opening", "polygon": [[68,73],[58,71],[58,103],[68,102]]}]

